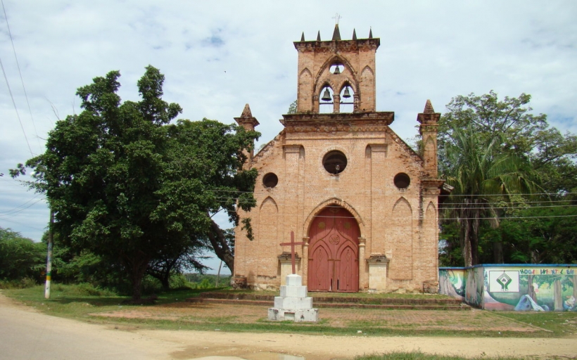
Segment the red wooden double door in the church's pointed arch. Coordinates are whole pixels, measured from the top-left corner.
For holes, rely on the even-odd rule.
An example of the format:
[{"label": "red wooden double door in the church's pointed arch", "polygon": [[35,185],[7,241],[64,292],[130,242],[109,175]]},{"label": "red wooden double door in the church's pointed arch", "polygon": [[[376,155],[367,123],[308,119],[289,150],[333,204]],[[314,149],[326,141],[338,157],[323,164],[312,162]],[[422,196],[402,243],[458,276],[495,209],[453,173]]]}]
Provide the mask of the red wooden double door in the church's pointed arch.
[{"label": "red wooden double door in the church's pointed arch", "polygon": [[359,290],[360,230],[348,210],[325,207],[309,229],[308,290],[356,293]]}]

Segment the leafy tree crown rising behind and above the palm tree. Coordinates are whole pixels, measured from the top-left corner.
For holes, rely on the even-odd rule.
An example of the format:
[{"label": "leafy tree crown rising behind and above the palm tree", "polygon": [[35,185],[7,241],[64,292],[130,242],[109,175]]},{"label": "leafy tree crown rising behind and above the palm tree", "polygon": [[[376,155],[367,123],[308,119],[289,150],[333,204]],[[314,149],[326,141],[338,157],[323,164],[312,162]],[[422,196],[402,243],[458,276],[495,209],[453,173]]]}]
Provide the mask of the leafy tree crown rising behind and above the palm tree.
[{"label": "leafy tree crown rising behind and above the palm tree", "polygon": [[444,144],[451,142],[453,129],[470,126],[483,141],[501,136],[498,151],[530,160],[547,192],[577,188],[577,136],[551,127],[547,115],[533,114],[530,102],[528,94],[500,100],[494,91],[452,98],[439,122],[441,164]]}]

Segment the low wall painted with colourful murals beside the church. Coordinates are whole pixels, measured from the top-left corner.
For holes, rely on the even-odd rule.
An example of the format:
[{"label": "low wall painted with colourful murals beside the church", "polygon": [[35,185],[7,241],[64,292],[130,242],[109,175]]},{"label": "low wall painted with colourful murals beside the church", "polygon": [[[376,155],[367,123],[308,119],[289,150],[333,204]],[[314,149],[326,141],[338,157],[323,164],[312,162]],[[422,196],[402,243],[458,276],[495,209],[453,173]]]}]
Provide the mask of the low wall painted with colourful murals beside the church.
[{"label": "low wall painted with colourful murals beside the church", "polygon": [[441,267],[439,293],[487,310],[577,311],[577,265]]}]

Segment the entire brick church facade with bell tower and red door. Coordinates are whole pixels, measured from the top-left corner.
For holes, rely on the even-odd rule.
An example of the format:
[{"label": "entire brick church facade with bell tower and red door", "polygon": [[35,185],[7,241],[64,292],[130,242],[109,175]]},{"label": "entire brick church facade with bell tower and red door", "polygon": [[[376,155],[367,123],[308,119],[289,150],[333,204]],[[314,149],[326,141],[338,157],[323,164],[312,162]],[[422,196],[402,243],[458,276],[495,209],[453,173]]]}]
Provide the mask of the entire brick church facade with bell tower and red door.
[{"label": "entire brick church facade with bell tower and red door", "polygon": [[[437,126],[430,101],[417,115],[423,155],[391,130],[393,112],[376,111],[380,39],[294,42],[296,113],[246,166],[258,170],[250,217],[253,240],[236,229],[234,281],[275,289],[296,273],[310,291],[436,292],[438,284]],[[329,110],[327,113],[323,111]],[[347,111],[348,112],[345,112]],[[246,105],[235,118],[258,121]],[[407,124],[412,127],[412,124]]]}]

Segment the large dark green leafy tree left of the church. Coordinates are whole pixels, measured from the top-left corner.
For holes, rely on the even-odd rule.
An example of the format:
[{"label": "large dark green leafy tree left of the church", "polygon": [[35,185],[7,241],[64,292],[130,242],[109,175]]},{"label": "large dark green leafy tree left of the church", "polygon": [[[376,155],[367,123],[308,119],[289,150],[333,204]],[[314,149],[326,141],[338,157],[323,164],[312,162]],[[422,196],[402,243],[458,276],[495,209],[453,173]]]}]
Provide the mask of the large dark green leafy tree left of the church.
[{"label": "large dark green leafy tree left of the church", "polygon": [[46,152],[26,166],[63,245],[115,261],[136,300],[151,264],[210,244],[210,214],[224,209],[236,222],[237,204],[253,206],[256,172],[242,169],[243,150],[258,133],[206,119],[172,122],[182,109],[163,101],[156,68],[139,80],[138,102],[121,101],[119,77],[109,72],[78,89],[82,113],[58,121]]}]

